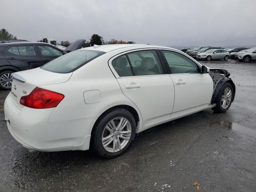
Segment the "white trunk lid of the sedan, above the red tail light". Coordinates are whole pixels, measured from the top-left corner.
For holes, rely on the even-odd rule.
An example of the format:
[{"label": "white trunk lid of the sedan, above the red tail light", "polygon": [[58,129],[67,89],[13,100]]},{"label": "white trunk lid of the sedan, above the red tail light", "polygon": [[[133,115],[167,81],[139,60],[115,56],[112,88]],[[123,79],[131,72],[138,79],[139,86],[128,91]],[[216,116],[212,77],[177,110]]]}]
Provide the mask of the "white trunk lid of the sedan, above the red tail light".
[{"label": "white trunk lid of the sedan, above the red tail light", "polygon": [[37,86],[66,82],[72,73],[61,74],[35,68],[13,73],[12,76],[12,99],[18,108],[22,108],[20,104],[22,96],[30,94]]}]

